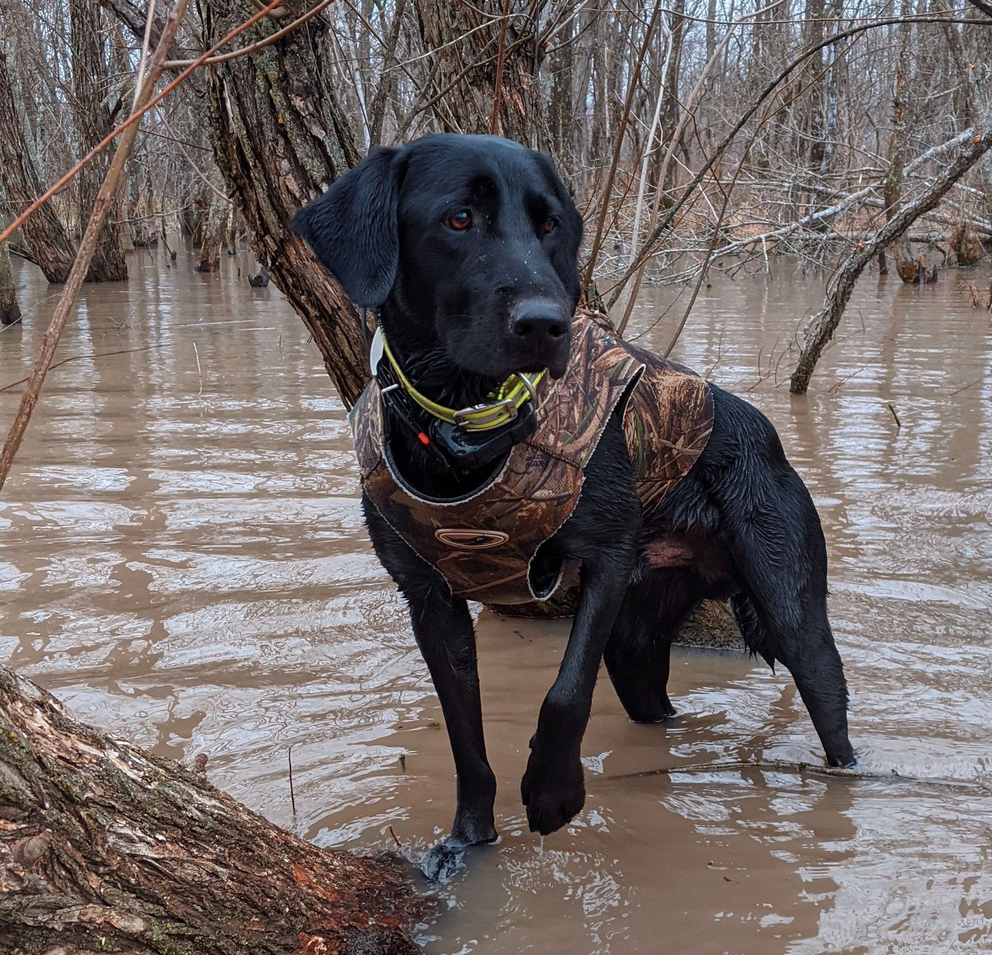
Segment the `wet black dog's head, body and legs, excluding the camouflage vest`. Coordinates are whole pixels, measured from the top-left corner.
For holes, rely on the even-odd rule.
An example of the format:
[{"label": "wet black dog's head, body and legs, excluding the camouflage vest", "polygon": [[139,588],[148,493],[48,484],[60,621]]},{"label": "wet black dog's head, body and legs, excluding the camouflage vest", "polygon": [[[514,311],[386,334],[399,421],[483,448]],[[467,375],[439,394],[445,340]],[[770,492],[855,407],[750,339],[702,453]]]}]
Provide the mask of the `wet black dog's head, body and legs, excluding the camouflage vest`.
[{"label": "wet black dog's head, body and legs, excluding the camouflage vest", "polygon": [[[378,308],[401,366],[434,401],[462,408],[512,372],[564,371],[582,226],[547,157],[475,136],[381,149],[295,226],[353,301]],[[712,394],[709,442],[651,517],[653,537],[691,551],[687,566],[659,569],[641,553],[641,506],[616,417],[576,510],[538,552],[545,567],[579,562],[581,593],[521,785],[532,830],[554,832],[582,808],[579,745],[601,659],[631,719],[675,714],[669,650],[703,597],[730,598],[751,650],[792,672],[828,763],[853,763],[816,511],[768,419],[719,388]],[[404,477],[432,497],[467,493],[489,472],[452,476],[409,428],[391,435]],[[367,499],[364,507],[376,553],[410,604],[447,723],[458,779],[447,846],[488,842],[496,780],[468,608]]]}]

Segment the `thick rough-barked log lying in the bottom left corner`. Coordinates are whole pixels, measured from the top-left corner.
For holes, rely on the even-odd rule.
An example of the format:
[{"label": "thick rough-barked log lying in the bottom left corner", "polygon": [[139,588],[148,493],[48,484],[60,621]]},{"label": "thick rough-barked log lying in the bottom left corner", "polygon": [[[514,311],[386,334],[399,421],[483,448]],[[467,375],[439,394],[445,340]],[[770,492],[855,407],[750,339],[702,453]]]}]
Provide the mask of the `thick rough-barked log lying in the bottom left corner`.
[{"label": "thick rough-barked log lying in the bottom left corner", "polygon": [[399,864],[318,849],[0,666],[0,952],[414,955]]}]

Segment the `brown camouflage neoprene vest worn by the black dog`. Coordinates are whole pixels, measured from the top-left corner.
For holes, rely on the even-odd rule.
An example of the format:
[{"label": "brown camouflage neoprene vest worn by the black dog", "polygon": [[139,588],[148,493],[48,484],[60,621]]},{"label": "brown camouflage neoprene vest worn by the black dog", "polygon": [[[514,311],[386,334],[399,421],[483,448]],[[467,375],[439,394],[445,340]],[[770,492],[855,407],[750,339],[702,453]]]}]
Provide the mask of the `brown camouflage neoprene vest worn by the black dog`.
[{"label": "brown camouflage neoprene vest worn by the black dog", "polygon": [[538,387],[537,429],[488,484],[464,498],[424,498],[395,472],[375,380],[352,415],[362,488],[383,518],[459,597],[493,604],[544,600],[531,559],[568,520],[583,468],[610,416],[627,402],[624,434],[638,491],[655,508],[688,472],[712,428],[706,384],[673,362],[615,338],[603,316],[579,311],[565,374]]}]

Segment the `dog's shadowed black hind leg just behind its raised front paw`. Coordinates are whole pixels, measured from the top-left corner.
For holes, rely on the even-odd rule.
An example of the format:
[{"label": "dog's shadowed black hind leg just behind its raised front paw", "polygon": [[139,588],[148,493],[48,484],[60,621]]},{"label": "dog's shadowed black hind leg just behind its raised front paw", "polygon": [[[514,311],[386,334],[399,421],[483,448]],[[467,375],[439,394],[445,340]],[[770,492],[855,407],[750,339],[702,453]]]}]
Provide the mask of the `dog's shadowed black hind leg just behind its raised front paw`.
[{"label": "dog's shadowed black hind leg just behind its raised front paw", "polygon": [[660,723],[676,715],[666,686],[672,641],[698,597],[684,575],[654,572],[631,584],[603,659],[627,715]]}]

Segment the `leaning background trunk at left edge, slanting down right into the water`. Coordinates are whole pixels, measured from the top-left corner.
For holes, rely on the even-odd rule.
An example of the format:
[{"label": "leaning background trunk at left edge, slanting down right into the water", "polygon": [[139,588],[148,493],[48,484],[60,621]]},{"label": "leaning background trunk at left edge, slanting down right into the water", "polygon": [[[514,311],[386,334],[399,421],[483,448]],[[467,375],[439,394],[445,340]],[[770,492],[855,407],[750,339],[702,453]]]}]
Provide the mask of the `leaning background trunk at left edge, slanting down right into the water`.
[{"label": "leaning background trunk at left edge, slanting down right into the water", "polygon": [[[20,212],[45,191],[32,162],[7,58],[0,50],[0,179],[12,209]],[[21,226],[21,237],[33,262],[49,282],[62,283],[72,267],[75,249],[51,203],[43,205]]]}]

